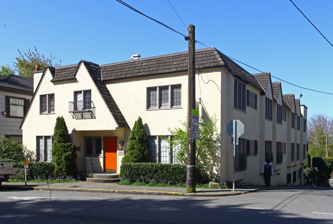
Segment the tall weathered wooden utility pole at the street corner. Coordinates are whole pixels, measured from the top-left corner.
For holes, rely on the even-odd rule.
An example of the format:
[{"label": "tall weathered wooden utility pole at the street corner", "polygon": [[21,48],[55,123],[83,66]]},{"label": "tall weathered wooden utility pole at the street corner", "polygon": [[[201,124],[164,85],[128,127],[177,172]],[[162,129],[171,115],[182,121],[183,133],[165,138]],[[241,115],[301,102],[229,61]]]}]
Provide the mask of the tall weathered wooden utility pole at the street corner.
[{"label": "tall weathered wooden utility pole at the street corner", "polygon": [[195,109],[195,27],[188,25],[188,105],[186,192],[195,192],[195,139],[192,138],[192,109]]}]

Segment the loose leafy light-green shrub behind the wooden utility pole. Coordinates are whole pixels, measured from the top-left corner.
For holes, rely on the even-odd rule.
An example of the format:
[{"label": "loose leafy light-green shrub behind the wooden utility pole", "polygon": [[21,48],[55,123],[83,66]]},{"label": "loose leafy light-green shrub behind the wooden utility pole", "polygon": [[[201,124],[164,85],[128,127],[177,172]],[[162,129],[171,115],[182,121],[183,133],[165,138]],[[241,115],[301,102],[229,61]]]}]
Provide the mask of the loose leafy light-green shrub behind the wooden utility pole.
[{"label": "loose leafy light-green shrub behind the wooden utility pole", "polygon": [[[199,139],[195,141],[195,163],[204,165],[204,162],[211,160],[216,156],[216,150],[219,148],[219,136],[217,133],[217,118],[214,115],[211,120],[204,122],[204,118],[199,118],[203,125],[199,125]],[[187,121],[182,122],[184,130],[175,128],[169,132],[172,138],[164,138],[168,143],[169,147],[173,145],[180,145],[178,153],[175,155],[177,160],[181,163],[187,163]]]}]

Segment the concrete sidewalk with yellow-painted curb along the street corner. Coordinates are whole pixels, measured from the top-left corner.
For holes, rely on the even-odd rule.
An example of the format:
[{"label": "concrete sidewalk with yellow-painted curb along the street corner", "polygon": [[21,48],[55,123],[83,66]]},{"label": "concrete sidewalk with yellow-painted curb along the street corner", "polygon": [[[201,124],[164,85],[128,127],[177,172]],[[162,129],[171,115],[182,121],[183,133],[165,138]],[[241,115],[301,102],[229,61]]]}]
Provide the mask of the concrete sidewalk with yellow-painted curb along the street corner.
[{"label": "concrete sidewalk with yellow-painted curb along the street corner", "polygon": [[[179,195],[179,196],[228,196],[238,195],[268,189],[295,189],[300,187],[288,186],[244,186],[232,189],[207,189],[196,188],[195,193],[186,193],[186,188],[180,187],[149,187],[118,185],[116,183],[94,183],[94,182],[74,182],[74,183],[33,183],[27,182],[2,182],[0,189],[29,189],[29,190],[52,190],[52,191],[81,191],[81,192],[102,192],[102,193],[121,193],[121,194],[154,194],[154,195]],[[308,188],[308,187],[304,187]]]}]

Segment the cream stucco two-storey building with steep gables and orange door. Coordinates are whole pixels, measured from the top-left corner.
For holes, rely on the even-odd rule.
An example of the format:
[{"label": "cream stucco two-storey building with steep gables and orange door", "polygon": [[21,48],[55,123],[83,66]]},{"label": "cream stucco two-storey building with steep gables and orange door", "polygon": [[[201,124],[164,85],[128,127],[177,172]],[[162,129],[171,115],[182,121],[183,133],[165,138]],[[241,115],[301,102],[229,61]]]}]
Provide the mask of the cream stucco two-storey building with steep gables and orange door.
[{"label": "cream stucco two-storey building with steep gables and orange door", "polygon": [[[215,48],[196,50],[196,100],[205,119],[216,115],[219,149],[209,174],[232,181],[230,120],[244,124],[237,146],[236,185],[263,185],[265,157],[272,157],[272,185],[301,185],[307,108],[283,95],[270,74],[251,75]],[[121,151],[138,116],[150,146],[147,161],[175,163],[160,136],[182,128],[187,116],[187,52],[106,65],[47,67],[34,72],[34,95],[21,124],[23,143],[37,160],[50,161],[57,116],[63,116],[78,157],[93,159],[94,172],[119,172]]]}]

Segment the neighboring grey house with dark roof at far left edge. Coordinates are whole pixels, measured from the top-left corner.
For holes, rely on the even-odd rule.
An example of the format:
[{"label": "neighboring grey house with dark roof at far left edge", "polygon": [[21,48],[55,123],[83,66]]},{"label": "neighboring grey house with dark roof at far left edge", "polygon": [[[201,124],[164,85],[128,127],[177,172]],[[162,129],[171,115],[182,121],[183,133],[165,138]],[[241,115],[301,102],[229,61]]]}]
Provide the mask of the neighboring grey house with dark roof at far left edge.
[{"label": "neighboring grey house with dark roof at far left edge", "polygon": [[22,142],[19,128],[33,95],[33,79],[0,76],[0,136]]}]

